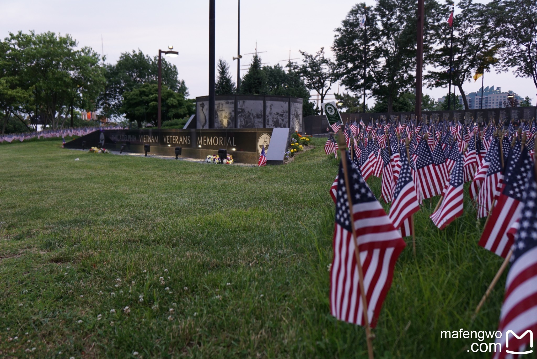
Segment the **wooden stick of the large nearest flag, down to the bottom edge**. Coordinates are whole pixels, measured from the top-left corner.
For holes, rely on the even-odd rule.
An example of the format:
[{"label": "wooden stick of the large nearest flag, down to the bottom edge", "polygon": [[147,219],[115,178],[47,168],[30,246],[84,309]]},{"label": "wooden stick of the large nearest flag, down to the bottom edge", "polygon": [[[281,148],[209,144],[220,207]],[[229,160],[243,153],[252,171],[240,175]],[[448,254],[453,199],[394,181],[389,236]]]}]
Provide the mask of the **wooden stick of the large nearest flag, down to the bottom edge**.
[{"label": "wooden stick of the large nearest flag, down to the bottom edge", "polygon": [[362,270],[362,264],[360,262],[360,250],[358,248],[358,238],[356,235],[356,228],[354,228],[354,218],[352,215],[352,197],[351,197],[351,189],[349,186],[349,172],[347,171],[347,159],[345,151],[347,149],[347,143],[345,142],[345,137],[343,135],[343,132],[339,132],[339,150],[341,154],[341,162],[343,164],[343,175],[345,177],[345,189],[347,191],[347,200],[349,201],[349,211],[351,214],[351,228],[352,228],[352,239],[354,241],[354,256],[356,258],[356,265],[358,267],[358,279],[359,279],[359,285],[360,285],[360,297],[362,299],[362,310],[364,312],[364,320],[365,320],[365,327],[366,327],[366,340],[367,340],[367,351],[369,353],[369,359],[373,359],[373,343],[371,339],[373,338],[373,334],[371,333],[371,327],[369,327],[369,318],[367,316],[367,298],[366,298],[366,292],[364,289],[364,272]]}]

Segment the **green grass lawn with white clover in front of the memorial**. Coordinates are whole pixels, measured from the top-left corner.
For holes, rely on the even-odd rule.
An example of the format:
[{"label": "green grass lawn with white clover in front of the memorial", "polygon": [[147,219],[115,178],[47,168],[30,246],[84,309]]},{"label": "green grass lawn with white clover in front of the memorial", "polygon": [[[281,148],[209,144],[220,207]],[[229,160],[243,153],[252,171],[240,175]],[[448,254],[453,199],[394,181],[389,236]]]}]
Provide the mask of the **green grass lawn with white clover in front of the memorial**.
[{"label": "green grass lawn with white clover in front of the memorial", "polygon": [[[338,162],[312,142],[264,168],[0,145],[0,357],[367,357],[364,328],[329,314]],[[495,331],[505,274],[471,321],[502,259],[477,245],[469,199],[438,231],[437,200],[396,264],[376,358],[491,357],[440,339]]]}]

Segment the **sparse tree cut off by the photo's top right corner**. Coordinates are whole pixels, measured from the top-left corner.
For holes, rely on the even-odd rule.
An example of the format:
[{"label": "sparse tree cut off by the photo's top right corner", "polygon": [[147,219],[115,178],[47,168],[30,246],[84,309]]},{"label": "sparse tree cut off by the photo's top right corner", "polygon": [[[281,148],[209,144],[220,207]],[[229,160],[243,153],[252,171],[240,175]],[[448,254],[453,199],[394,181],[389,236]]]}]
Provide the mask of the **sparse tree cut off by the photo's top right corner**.
[{"label": "sparse tree cut off by the photo's top right corner", "polygon": [[495,0],[497,25],[505,41],[504,69],[513,68],[517,77],[529,77],[537,88],[537,2],[535,0]]}]

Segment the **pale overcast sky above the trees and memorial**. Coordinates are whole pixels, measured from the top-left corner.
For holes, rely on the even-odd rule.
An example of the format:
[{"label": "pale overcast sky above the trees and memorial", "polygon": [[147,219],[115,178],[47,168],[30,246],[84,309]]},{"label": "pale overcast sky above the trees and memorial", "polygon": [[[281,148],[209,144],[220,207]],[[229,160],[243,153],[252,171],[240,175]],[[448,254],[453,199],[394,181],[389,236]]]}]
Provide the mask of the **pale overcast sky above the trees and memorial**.
[{"label": "pale overcast sky above the trees and memorial", "polygon": [[[480,0],[477,0],[480,1]],[[487,0],[482,0],[487,2]],[[353,0],[242,0],[241,64],[248,64],[257,50],[263,62],[300,58],[299,49],[314,53],[321,47],[330,49],[334,29],[345,18]],[[374,4],[374,0],[366,0]],[[0,36],[22,30],[69,33],[81,46],[91,46],[107,62],[118,60],[120,53],[140,48],[154,56],[158,49],[173,45],[179,56],[169,61],[179,70],[190,97],[208,94],[208,0],[179,1],[103,1],[77,0],[0,0]],[[456,10],[455,10],[456,11]],[[447,17],[447,15],[446,15]],[[103,46],[101,47],[101,35]],[[331,54],[331,52],[329,51]],[[216,0],[216,58],[230,63],[236,80],[237,0]],[[295,60],[297,61],[297,60]],[[286,62],[280,62],[285,64]],[[245,71],[242,71],[244,74]],[[535,87],[529,78],[515,78],[511,73],[485,74],[485,87],[495,85],[532,98]],[[465,92],[477,91],[481,81],[465,84]],[[332,88],[338,91],[337,84]],[[339,91],[342,91],[340,88]],[[447,89],[425,89],[435,99]],[[330,92],[332,93],[332,91]],[[373,100],[368,100],[373,104]]]}]

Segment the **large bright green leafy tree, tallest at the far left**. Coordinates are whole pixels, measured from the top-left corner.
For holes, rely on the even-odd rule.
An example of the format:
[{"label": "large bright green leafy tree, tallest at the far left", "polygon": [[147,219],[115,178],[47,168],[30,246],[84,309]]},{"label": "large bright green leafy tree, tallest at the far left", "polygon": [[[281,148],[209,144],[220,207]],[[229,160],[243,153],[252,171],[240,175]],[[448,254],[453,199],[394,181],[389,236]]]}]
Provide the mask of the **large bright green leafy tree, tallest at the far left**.
[{"label": "large bright green leafy tree, tallest at the far left", "polygon": [[[46,125],[58,128],[74,107],[95,109],[104,77],[99,55],[91,48],[76,49],[78,43],[70,35],[53,32],[19,31],[10,33],[5,42],[12,63],[16,63],[20,88],[30,91],[32,97],[21,105],[20,112],[33,118],[40,114]],[[18,113],[13,114],[19,117]]]}]

